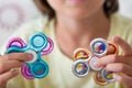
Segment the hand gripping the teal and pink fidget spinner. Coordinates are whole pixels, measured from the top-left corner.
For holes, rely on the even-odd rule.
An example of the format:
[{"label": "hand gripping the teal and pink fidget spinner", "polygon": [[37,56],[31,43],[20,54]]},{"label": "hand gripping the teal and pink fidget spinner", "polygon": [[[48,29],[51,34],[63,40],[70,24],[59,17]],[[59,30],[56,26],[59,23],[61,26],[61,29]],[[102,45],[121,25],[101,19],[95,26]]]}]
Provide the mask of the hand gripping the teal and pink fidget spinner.
[{"label": "hand gripping the teal and pink fidget spinner", "polygon": [[21,67],[24,62],[31,61],[32,55],[28,53],[11,53],[0,56],[0,88],[7,88],[9,79],[19,75],[19,70],[12,68]]}]

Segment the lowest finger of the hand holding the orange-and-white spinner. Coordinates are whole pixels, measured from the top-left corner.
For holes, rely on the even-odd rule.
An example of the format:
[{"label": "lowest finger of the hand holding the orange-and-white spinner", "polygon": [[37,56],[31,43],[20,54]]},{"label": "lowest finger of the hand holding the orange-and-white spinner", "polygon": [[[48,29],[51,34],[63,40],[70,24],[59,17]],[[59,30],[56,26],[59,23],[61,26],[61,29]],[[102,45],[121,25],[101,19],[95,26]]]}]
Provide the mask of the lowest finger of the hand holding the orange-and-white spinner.
[{"label": "lowest finger of the hand holding the orange-and-white spinner", "polygon": [[127,86],[127,88],[132,88],[132,77],[129,77],[124,74],[121,74],[121,75],[114,74],[113,78],[117,81],[120,81],[121,84],[124,84]]}]

